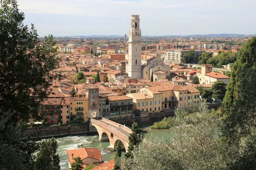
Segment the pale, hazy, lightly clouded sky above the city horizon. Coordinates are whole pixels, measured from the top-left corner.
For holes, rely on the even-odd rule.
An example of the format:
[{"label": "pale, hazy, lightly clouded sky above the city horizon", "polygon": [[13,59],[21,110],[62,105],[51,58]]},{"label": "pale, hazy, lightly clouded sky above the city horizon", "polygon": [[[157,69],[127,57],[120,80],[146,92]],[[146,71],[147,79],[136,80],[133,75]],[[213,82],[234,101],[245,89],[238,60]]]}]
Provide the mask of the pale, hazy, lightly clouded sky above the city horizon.
[{"label": "pale, hazy, lightly clouded sky above the city horizon", "polygon": [[256,34],[255,0],[17,0],[39,36]]}]

